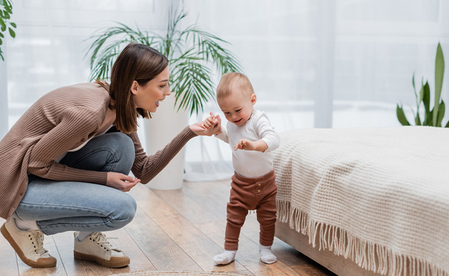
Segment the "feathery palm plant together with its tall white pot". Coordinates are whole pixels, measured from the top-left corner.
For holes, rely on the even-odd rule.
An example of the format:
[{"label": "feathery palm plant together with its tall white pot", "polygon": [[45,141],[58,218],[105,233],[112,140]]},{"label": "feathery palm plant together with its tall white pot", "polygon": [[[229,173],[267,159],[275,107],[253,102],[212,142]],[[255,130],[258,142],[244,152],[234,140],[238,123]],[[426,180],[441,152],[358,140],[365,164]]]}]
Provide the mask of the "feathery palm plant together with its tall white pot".
[{"label": "feathery palm plant together with its tall white pot", "polygon": [[[183,10],[170,10],[164,34],[143,31],[137,26],[133,29],[117,23],[115,27],[98,30],[89,38],[94,40],[86,54],[92,70],[90,81],[107,80],[115,59],[131,41],[151,46],[169,59],[169,83],[174,97],[167,97],[153,119],[144,121],[146,149],[149,154],[162,149],[187,125],[189,115],[198,114],[207,101],[214,99],[211,80],[213,70],[217,70],[219,75],[241,71],[236,57],[225,48],[229,46],[229,42],[207,32],[198,24],[181,28],[182,20],[186,17],[187,12]],[[173,112],[173,108],[178,113]],[[183,169],[184,150],[149,183],[149,187],[181,188]]]}]

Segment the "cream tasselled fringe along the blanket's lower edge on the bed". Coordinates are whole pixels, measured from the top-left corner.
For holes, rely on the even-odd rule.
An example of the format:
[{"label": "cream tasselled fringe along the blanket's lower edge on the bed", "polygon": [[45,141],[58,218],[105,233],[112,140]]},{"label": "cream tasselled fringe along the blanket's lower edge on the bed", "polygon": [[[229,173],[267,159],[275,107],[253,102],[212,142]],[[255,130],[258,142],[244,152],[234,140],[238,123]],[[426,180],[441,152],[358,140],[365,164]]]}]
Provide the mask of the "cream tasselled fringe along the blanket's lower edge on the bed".
[{"label": "cream tasselled fringe along the blanket's lower edge on the bed", "polygon": [[[367,242],[346,230],[314,221],[303,210],[290,210],[289,201],[277,200],[278,219],[309,237],[309,244],[319,250],[352,259],[357,265],[381,275],[449,276],[449,272],[423,259],[395,253],[391,248]],[[317,237],[318,236],[318,237]]]}]

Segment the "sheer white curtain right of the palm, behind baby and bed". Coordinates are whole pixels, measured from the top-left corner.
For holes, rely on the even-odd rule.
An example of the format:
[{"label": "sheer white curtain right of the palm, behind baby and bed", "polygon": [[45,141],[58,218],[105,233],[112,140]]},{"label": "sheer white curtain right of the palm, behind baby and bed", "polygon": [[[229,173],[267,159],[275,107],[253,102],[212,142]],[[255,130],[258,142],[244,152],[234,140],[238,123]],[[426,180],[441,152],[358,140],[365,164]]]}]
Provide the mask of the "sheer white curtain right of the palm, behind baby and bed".
[{"label": "sheer white curtain right of the palm, behind baby and bed", "polygon": [[[418,92],[421,77],[434,91],[438,42],[449,68],[448,0],[183,2],[191,23],[232,43],[258,96],[256,109],[278,132],[400,126],[396,104],[409,121],[410,106],[416,110],[413,73]],[[441,97],[449,102],[449,72]],[[218,111],[216,103],[202,117],[211,110]],[[190,141],[186,179],[229,177],[230,162],[222,141]]]}]

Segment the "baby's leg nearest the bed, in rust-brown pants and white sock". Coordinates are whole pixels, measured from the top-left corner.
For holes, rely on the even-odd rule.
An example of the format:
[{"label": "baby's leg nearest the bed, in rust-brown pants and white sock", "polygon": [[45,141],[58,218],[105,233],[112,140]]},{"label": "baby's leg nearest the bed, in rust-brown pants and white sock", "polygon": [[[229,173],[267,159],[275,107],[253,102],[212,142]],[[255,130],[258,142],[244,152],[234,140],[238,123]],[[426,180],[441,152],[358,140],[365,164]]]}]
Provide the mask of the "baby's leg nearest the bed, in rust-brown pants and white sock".
[{"label": "baby's leg nearest the bed, in rust-brown pants and white sock", "polygon": [[274,190],[265,197],[257,209],[257,220],[260,224],[260,260],[265,264],[272,264],[277,261],[276,256],[271,252],[276,224],[276,192]]}]

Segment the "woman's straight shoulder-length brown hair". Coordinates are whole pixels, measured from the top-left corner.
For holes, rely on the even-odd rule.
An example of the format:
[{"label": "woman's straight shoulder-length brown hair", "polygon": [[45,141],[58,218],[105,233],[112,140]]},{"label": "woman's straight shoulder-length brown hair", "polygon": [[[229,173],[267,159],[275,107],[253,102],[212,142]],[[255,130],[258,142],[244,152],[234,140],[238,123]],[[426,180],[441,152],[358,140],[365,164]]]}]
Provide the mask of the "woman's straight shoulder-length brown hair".
[{"label": "woman's straight shoulder-length brown hair", "polygon": [[[114,62],[111,71],[111,86],[96,81],[109,91],[114,101],[109,108],[115,110],[115,127],[120,132],[137,131],[137,117],[151,118],[150,112],[136,108],[131,86],[137,81],[140,86],[154,79],[167,66],[169,60],[157,50],[144,44],[131,42],[126,46]],[[112,101],[111,101],[112,102]]]}]

